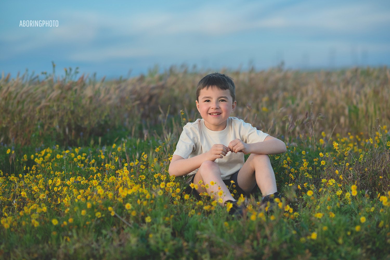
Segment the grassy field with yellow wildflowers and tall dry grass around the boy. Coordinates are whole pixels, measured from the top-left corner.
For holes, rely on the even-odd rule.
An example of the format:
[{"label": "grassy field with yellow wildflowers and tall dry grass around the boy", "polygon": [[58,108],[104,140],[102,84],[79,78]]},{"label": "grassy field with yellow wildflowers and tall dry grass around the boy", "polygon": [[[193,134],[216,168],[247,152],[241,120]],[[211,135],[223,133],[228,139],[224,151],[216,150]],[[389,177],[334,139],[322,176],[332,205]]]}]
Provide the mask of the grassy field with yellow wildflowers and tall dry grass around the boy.
[{"label": "grassy field with yellow wildflowers and tall dry grass around the boy", "polygon": [[284,198],[243,218],[167,172],[210,72],[2,75],[0,259],[389,259],[390,70],[222,71],[233,116],[287,145]]}]

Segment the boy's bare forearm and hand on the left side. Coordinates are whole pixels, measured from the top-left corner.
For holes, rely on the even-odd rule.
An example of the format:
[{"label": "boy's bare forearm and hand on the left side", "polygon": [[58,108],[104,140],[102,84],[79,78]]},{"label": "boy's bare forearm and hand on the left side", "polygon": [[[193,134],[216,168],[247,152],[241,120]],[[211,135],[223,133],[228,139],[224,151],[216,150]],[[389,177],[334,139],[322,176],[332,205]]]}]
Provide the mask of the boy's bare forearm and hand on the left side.
[{"label": "boy's bare forearm and hand on the left side", "polygon": [[181,156],[174,155],[169,164],[168,172],[169,175],[183,176],[193,170],[196,170],[204,161],[215,161],[218,158],[223,158],[229,151],[225,145],[215,144],[208,152],[199,154],[188,159],[184,159]]}]

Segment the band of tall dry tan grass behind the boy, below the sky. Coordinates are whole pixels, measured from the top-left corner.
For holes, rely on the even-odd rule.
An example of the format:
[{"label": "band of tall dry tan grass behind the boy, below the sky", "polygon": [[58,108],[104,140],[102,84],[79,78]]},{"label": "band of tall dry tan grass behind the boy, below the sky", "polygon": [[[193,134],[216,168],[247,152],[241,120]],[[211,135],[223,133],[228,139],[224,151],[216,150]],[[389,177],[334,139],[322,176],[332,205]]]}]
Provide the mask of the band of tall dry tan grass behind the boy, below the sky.
[{"label": "band of tall dry tan grass behind the boy, below the sky", "polygon": [[[379,124],[390,122],[387,67],[221,72],[236,83],[234,116],[287,141],[322,131],[328,136],[333,132],[373,133],[377,118]],[[138,134],[140,123],[153,127],[181,109],[187,120],[194,120],[199,117],[195,88],[207,73],[171,67],[160,74],[113,81],[95,81],[84,75],[78,80],[48,77],[43,81],[26,74],[12,79],[3,75],[0,141],[24,145],[51,136],[65,145],[100,136],[108,128]],[[161,111],[167,111],[167,117],[161,117]]]}]

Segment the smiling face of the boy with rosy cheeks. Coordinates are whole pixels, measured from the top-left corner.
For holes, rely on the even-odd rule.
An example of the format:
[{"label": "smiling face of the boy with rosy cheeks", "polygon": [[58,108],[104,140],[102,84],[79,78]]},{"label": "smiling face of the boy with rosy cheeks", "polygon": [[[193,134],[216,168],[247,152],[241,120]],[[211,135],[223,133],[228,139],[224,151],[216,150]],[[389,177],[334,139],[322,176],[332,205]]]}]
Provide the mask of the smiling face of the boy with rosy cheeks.
[{"label": "smiling face of the boy with rosy cheeks", "polygon": [[236,108],[236,101],[233,101],[230,91],[216,87],[203,88],[198,100],[195,102],[204,125],[213,131],[225,129],[230,113]]}]

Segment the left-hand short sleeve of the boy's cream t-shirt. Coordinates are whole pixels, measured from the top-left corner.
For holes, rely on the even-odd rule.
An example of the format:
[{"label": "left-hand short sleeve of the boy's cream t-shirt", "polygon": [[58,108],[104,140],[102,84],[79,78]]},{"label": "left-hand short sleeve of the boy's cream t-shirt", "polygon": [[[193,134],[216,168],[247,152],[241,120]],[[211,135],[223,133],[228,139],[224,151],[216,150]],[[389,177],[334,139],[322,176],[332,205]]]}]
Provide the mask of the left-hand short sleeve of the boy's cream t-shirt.
[{"label": "left-hand short sleeve of the boy's cream t-shirt", "polygon": [[176,150],[173,154],[187,159],[191,152],[195,151],[195,143],[197,139],[198,138],[195,134],[192,124],[187,123],[183,127],[183,132],[181,132],[179,141],[176,145]]}]

